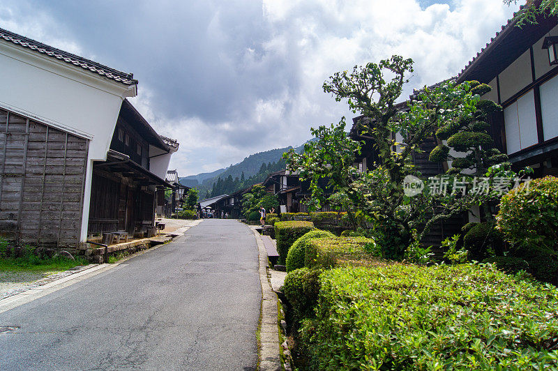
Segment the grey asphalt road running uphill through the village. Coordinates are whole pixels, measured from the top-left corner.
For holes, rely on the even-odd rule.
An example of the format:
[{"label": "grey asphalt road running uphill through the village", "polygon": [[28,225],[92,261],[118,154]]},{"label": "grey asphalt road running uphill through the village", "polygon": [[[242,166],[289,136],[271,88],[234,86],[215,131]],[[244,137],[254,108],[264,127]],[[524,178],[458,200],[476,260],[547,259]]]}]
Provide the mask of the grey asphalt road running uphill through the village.
[{"label": "grey asphalt road running uphill through the village", "polygon": [[204,220],[92,278],[0,313],[0,370],[254,370],[262,296],[246,225]]}]

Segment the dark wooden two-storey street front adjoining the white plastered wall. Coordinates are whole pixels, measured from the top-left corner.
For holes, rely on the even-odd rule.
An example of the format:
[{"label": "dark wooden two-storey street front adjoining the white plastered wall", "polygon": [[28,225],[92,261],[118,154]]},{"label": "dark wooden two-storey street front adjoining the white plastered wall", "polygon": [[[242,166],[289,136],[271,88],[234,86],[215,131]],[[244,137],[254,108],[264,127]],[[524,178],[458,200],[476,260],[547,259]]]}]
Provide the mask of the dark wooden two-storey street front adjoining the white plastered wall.
[{"label": "dark wooden two-storey street front adjoining the white plastered wall", "polygon": [[[149,147],[169,151],[143,117],[124,100],[106,161],[93,164],[89,235],[155,233],[157,199],[172,188],[149,172]],[[159,196],[159,197],[158,197]]]}]

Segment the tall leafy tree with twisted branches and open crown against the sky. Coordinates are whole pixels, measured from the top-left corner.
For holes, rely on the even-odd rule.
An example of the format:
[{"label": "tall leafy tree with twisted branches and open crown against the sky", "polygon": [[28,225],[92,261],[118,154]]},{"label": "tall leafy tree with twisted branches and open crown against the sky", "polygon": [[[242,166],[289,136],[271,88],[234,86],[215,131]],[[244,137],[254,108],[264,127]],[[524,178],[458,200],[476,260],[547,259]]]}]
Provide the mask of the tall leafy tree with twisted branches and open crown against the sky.
[{"label": "tall leafy tree with twisted branches and open crown against the sky", "polygon": [[[405,176],[421,175],[413,162],[414,154],[422,151],[421,144],[439,128],[472,117],[478,102],[478,95],[472,93],[468,83],[446,81],[419,91],[405,109],[400,109],[395,101],[407,82],[405,74],[412,71],[411,59],[392,56],[379,63],[355,66],[352,72],[335,73],[324,82],[325,92],[332,93],[338,101],[347,99],[352,112],[359,112],[365,118],[359,121],[359,128],[377,152],[375,169],[361,174],[352,168],[348,153],[358,151],[358,146],[340,135],[342,128],[331,128],[329,132],[322,129],[322,134],[317,130],[319,145],[308,146],[312,153],[305,153],[302,158],[289,154],[289,167],[301,174],[308,173],[305,176],[311,183],[331,176],[331,186],[340,193],[342,205],[349,208],[359,205],[372,222],[384,256],[389,258],[402,257],[407,247],[421,238],[416,229],[425,222],[426,211],[435,210],[439,202],[451,206],[446,209],[446,218],[472,206],[471,200],[460,200],[455,195],[445,200],[436,199],[428,192],[415,197],[405,195],[402,187]],[[395,132],[402,135],[402,142],[395,141]],[[325,138],[331,140],[331,137],[338,143],[326,143]],[[339,154],[330,153],[332,146],[343,150]],[[326,167],[328,164],[331,168]],[[341,177],[335,178],[334,164],[338,164],[336,172]],[[321,202],[319,195],[319,191],[315,192]]]}]

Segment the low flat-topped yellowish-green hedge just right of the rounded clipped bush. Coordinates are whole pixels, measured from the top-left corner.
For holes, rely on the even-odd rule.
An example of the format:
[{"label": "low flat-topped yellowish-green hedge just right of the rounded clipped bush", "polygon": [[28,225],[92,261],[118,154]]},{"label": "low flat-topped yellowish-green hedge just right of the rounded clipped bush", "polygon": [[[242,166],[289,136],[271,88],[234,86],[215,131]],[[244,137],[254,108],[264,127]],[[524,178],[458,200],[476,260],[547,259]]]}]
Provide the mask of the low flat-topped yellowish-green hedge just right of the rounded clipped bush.
[{"label": "low flat-topped yellowish-green hedge just right of the rounded clipped bush", "polygon": [[365,237],[312,239],[306,243],[304,265],[312,268],[372,266],[382,262],[374,240]]}]

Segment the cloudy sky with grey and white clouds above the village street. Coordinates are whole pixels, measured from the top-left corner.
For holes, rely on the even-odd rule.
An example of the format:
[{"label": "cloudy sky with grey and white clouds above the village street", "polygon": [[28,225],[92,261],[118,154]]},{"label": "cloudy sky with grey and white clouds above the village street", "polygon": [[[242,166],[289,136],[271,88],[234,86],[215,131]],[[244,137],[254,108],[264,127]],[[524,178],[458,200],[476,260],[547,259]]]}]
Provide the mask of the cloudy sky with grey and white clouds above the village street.
[{"label": "cloudy sky with grey and white clouds above the village street", "polygon": [[518,6],[502,0],[0,0],[0,27],[134,73],[132,102],[211,172],[352,117],[324,80],[392,54],[409,92],[459,73]]}]

